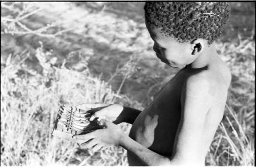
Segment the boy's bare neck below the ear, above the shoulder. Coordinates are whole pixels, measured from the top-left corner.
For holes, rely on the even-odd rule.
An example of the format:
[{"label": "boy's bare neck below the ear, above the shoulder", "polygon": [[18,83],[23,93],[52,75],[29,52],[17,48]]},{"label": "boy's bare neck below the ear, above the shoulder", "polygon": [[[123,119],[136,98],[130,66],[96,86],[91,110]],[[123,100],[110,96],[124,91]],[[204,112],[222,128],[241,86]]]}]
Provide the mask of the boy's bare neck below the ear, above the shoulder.
[{"label": "boy's bare neck below the ear, above the shoulder", "polygon": [[212,43],[210,46],[207,45],[198,58],[193,63],[187,65],[186,68],[199,69],[206,67],[217,59],[217,55],[218,53],[216,51],[215,43]]}]

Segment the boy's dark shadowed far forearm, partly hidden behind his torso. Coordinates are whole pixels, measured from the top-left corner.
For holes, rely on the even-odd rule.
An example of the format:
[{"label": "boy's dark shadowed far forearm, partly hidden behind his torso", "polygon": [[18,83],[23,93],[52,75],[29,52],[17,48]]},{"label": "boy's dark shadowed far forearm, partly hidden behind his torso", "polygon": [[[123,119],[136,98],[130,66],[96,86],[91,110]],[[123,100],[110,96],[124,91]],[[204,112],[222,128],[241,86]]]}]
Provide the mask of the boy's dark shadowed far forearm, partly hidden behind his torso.
[{"label": "boy's dark shadowed far forearm, partly hidden behind his torso", "polygon": [[135,119],[139,116],[141,110],[123,107],[121,114],[118,116],[117,120],[114,122],[115,124],[119,124],[122,122],[133,124]]}]

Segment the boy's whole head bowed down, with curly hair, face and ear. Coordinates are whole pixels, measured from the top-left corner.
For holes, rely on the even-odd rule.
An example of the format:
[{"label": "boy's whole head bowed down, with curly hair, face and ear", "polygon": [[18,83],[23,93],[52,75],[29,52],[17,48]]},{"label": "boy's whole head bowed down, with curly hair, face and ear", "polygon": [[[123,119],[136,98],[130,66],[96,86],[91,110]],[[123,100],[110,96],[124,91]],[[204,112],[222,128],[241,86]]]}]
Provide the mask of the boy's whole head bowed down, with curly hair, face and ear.
[{"label": "boy's whole head bowed down, with curly hair, face and ear", "polygon": [[230,8],[219,2],[146,2],[144,10],[157,57],[179,67],[193,62],[191,55],[221,35]]}]

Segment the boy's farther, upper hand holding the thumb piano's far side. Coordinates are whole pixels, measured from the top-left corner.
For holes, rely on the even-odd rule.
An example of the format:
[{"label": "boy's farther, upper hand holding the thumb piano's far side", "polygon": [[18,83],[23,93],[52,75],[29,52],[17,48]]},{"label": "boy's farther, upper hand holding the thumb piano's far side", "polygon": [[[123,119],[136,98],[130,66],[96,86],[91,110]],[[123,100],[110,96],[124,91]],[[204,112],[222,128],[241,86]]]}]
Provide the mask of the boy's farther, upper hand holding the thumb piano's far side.
[{"label": "boy's farther, upper hand holding the thumb piano's far side", "polygon": [[123,106],[120,104],[106,104],[106,103],[83,103],[76,106],[80,109],[92,109],[95,113],[92,115],[90,120],[94,120],[95,118],[106,119],[116,124],[121,123],[120,119],[117,121],[118,116],[121,114],[123,110]]}]

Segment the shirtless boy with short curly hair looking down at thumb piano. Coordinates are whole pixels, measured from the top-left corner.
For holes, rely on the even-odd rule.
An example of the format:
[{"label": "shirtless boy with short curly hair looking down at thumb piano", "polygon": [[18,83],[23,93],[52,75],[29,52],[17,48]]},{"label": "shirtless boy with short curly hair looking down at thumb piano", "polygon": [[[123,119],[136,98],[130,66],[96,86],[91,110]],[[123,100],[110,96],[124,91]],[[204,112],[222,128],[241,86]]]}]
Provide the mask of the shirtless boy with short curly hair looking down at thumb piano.
[{"label": "shirtless boy with short curly hair looking down at thumb piano", "polygon": [[[145,23],[157,57],[170,67],[183,67],[143,111],[119,104],[101,107],[104,129],[76,135],[81,148],[99,150],[119,145],[129,165],[204,165],[222,120],[231,74],[215,48],[227,22],[227,3],[147,2]],[[129,135],[116,124],[132,124]]]}]

